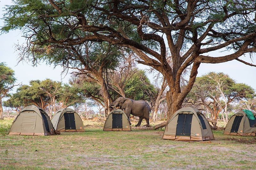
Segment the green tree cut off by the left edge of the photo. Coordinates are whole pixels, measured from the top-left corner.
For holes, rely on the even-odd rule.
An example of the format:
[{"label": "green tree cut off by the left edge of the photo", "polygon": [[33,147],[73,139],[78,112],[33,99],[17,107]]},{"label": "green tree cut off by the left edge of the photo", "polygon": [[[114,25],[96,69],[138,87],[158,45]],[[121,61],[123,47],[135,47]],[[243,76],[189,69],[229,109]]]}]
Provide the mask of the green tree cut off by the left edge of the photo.
[{"label": "green tree cut off by the left edge of the photo", "polygon": [[4,63],[0,63],[0,119],[4,119],[2,100],[16,86],[15,81],[14,71]]}]

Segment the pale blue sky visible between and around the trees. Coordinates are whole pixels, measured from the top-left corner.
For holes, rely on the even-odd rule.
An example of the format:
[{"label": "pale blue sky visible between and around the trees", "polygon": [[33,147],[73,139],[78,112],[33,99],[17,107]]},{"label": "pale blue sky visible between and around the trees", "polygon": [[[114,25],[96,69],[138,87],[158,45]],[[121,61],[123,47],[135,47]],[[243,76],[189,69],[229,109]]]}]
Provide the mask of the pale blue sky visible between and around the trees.
[{"label": "pale blue sky visible between and around the trees", "polygon": [[[0,0],[0,18],[3,18],[4,5],[10,4],[10,0]],[[3,20],[0,20],[0,27],[3,26]],[[18,83],[28,84],[30,80],[44,80],[50,78],[52,80],[62,81],[67,83],[70,78],[70,74],[67,76],[61,75],[63,69],[60,66],[55,68],[45,63],[40,63],[36,67],[32,66],[32,63],[18,63],[19,52],[15,49],[15,44],[22,44],[25,39],[22,37],[22,33],[19,30],[10,31],[9,33],[0,34],[0,62],[5,62],[9,67],[15,71],[15,77]],[[210,53],[211,56],[223,56],[227,55],[228,52],[214,52]],[[239,59],[245,60],[252,63],[249,55],[241,56]],[[256,59],[254,59],[256,64]],[[138,65],[140,69],[148,68],[142,64]],[[256,67],[251,67],[240,63],[236,60],[219,63],[219,64],[208,64],[201,63],[198,69],[198,76],[201,76],[207,72],[224,72],[231,78],[235,79],[237,83],[245,83],[256,89]],[[152,76],[149,77],[153,82]]]}]

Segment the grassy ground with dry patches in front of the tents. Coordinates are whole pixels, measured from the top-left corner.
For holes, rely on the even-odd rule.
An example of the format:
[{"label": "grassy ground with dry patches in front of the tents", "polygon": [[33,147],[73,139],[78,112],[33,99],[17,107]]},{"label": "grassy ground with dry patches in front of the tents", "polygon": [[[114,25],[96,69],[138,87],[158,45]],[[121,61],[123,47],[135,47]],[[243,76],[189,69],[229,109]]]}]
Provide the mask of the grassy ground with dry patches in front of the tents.
[{"label": "grassy ground with dry patches in front of the tents", "polygon": [[86,132],[52,136],[8,136],[12,119],[0,121],[0,169],[255,169],[255,137],[162,140],[163,129],[102,131],[86,121]]}]

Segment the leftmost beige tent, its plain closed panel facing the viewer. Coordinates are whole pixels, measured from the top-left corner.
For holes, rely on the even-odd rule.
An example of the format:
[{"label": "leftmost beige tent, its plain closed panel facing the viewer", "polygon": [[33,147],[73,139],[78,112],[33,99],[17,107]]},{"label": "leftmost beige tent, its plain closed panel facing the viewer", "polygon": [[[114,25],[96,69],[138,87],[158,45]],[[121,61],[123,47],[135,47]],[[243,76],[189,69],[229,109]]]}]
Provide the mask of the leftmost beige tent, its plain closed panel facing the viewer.
[{"label": "leftmost beige tent, its plain closed panel facing the viewer", "polygon": [[52,122],[46,112],[35,105],[20,111],[12,122],[9,135],[54,135]]}]

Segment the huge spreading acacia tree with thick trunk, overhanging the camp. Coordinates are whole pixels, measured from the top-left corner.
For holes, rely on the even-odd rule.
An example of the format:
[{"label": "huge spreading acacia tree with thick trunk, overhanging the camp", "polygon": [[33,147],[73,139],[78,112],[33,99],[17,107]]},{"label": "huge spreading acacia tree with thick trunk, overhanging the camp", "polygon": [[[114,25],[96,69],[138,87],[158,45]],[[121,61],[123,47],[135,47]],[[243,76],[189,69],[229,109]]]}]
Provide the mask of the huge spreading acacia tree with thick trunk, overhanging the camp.
[{"label": "huge spreading acacia tree with thick trunk, overhanging the camp", "polygon": [[[132,49],[139,63],[166,79],[169,119],[191,90],[200,63],[238,60],[255,66],[238,59],[256,52],[255,11],[254,0],[16,0],[6,8],[2,31],[22,29],[28,38],[23,52],[32,51],[33,60],[45,56],[45,49],[61,53],[59,48],[75,49],[70,56],[77,57],[76,47],[87,41]],[[172,66],[166,60],[168,48]],[[224,49],[228,55],[209,55]],[[57,58],[73,61],[63,56],[46,60]],[[188,84],[181,88],[180,77],[190,65]]]}]

